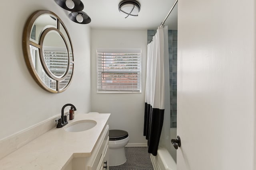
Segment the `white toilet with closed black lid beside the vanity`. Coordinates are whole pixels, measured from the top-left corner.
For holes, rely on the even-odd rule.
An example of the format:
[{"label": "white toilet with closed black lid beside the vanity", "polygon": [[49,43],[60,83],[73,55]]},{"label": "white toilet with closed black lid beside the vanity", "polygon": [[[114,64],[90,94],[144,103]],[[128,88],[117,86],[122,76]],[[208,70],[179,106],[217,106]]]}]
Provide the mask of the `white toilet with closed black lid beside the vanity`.
[{"label": "white toilet with closed black lid beside the vanity", "polygon": [[109,130],[109,166],[118,166],[126,162],[124,147],[129,142],[128,132]]}]

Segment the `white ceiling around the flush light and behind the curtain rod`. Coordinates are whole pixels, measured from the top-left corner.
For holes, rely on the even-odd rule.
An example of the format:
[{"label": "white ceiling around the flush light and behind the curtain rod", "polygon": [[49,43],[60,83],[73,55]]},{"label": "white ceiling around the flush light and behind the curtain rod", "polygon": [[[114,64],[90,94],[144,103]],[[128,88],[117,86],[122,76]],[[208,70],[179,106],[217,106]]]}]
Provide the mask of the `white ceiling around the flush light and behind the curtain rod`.
[{"label": "white ceiling around the flush light and behind the curtain rod", "polygon": [[[90,27],[105,29],[157,29],[166,18],[175,0],[138,0],[138,17],[124,18],[118,11],[121,0],[82,0],[84,12],[92,19]],[[178,8],[172,10],[164,25],[177,29]]]}]

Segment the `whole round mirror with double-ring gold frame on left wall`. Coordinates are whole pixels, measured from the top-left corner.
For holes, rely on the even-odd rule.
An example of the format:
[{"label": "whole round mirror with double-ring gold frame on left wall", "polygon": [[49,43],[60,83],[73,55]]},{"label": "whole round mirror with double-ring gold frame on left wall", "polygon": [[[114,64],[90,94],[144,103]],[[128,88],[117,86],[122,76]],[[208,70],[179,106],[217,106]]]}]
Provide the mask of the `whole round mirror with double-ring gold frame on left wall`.
[{"label": "whole round mirror with double-ring gold frame on left wall", "polygon": [[52,93],[68,88],[73,75],[73,47],[64,23],[53,12],[39,10],[26,22],[23,53],[34,80]]}]

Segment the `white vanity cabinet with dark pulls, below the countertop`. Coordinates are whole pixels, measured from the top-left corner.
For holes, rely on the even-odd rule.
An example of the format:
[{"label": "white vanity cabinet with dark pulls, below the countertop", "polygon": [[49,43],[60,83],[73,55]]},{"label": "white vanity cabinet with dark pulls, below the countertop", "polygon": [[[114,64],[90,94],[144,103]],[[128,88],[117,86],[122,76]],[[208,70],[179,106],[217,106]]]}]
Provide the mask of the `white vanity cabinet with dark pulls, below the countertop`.
[{"label": "white vanity cabinet with dark pulls, below the countertop", "polygon": [[102,130],[90,157],[73,158],[65,170],[109,170],[108,166],[108,124]]}]

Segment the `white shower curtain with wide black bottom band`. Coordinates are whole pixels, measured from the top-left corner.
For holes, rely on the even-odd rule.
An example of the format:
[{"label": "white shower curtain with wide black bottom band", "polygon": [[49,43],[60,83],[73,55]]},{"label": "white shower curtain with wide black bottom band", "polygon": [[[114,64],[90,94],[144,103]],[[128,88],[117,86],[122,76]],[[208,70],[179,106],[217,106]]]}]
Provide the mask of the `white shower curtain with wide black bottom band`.
[{"label": "white shower curtain with wide black bottom band", "polygon": [[[164,68],[164,56],[166,55],[168,55],[168,27],[158,27],[156,35],[148,44],[144,113],[144,136],[148,140],[148,152],[154,156],[157,154],[164,121],[164,72],[168,69],[169,73],[169,68]],[[170,119],[168,121],[170,122]]]}]

